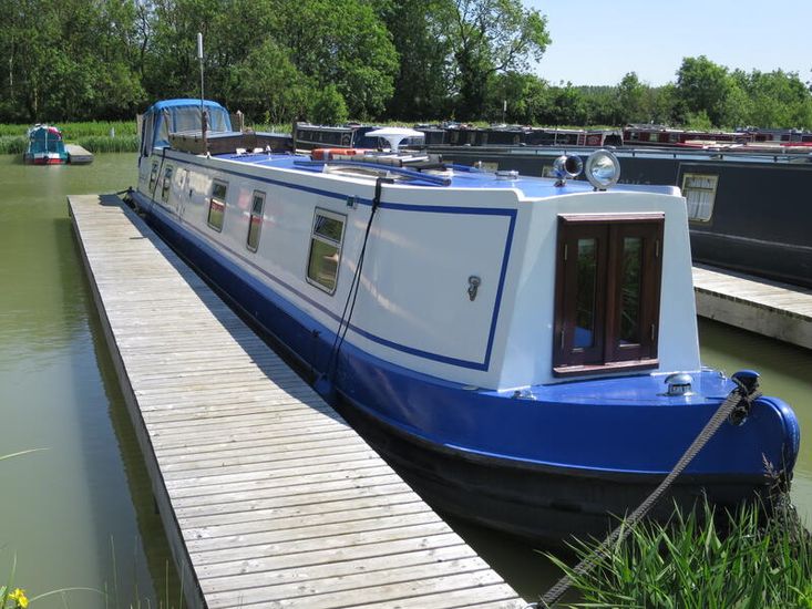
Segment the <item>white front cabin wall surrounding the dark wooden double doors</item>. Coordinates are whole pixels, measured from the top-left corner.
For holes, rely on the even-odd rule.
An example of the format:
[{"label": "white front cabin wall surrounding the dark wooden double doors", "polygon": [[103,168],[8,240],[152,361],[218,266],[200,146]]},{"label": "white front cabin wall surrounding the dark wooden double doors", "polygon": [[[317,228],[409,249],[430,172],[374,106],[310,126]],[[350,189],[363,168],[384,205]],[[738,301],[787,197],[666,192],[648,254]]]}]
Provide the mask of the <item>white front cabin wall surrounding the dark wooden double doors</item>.
[{"label": "white front cabin wall surrounding the dark wooden double doors", "polygon": [[[607,200],[610,199],[610,200]],[[586,378],[554,373],[555,295],[558,216],[635,215],[662,213],[662,270],[657,321],[657,367],[645,373],[696,371],[701,368],[690,245],[685,199],[679,196],[623,192],[569,194],[523,200],[524,220],[516,235],[517,281],[513,318],[506,329],[506,349],[500,389],[522,388]],[[624,373],[605,370],[600,375]],[[626,372],[628,373],[628,372]]]}]

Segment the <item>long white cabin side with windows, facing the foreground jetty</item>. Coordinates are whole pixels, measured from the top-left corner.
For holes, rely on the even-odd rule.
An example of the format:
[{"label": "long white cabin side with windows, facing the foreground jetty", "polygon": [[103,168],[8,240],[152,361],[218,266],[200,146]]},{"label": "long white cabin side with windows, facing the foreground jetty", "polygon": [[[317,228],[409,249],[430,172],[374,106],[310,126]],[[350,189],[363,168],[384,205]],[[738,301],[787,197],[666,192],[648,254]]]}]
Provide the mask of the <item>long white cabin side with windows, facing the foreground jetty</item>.
[{"label": "long white cabin side with windows, facing the foreground jetty", "polygon": [[[153,155],[142,163],[140,190],[147,196],[153,163],[158,163],[160,174],[153,205],[167,218],[179,220],[312,319],[333,331],[338,328],[371,213],[374,180],[195,156],[187,161],[183,153],[166,151],[163,159]],[[162,180],[168,168],[171,186],[164,202]],[[225,186],[219,228],[209,223],[215,185]],[[261,236],[251,251],[246,240],[257,193],[264,197]],[[512,283],[516,206],[513,189],[386,185],[347,341],[417,372],[495,386],[501,373],[500,311],[505,310],[504,295]],[[314,218],[322,213],[343,226],[335,292],[307,277]],[[471,277],[481,280],[473,299]]]}]

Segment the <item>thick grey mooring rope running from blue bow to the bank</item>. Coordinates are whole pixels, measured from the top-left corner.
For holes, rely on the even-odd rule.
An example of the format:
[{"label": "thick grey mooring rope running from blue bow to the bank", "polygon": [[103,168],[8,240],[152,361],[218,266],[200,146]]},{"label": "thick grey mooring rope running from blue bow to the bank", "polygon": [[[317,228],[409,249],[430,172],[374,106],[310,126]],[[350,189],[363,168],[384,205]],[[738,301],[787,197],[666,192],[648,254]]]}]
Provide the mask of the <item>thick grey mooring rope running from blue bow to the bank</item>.
[{"label": "thick grey mooring rope running from blue bow to the bank", "polygon": [[[728,417],[730,417],[730,415],[737,410],[737,406],[742,401],[747,403],[747,407],[749,409],[752,402],[761,398],[761,392],[757,389],[758,385],[753,385],[752,391],[750,391],[744,385],[744,383],[739,381],[736,376],[733,376],[732,381],[737,384],[737,386],[724,399],[724,401],[719,406],[719,410],[717,410],[716,414],[713,414],[708,423],[706,423],[705,427],[693,440],[691,445],[688,446],[688,450],[674,466],[674,469],[671,469],[671,472],[662,479],[662,482],[660,482],[657,488],[655,488],[651,494],[646,497],[646,499],[637,507],[637,509],[631,513],[630,516],[625,518],[624,522],[617,528],[615,528],[615,530],[613,530],[609,536],[604,539],[602,544],[589,556],[578,562],[578,565],[573,569],[573,577],[579,577],[588,574],[593,568],[595,568],[595,565],[597,564],[597,559],[599,557],[608,556],[609,548],[611,546],[618,543],[623,543],[626,537],[628,537],[629,533],[631,533],[635,526],[637,526],[637,524],[646,517],[651,508],[657,505],[657,502],[665,494],[665,492],[668,491],[671,484],[674,484],[674,481],[676,481],[677,477],[682,473],[682,471],[690,464],[690,462],[693,461],[693,457],[699,454],[699,451],[702,450],[702,447],[713,436],[713,434],[721,426],[721,424]],[[531,603],[528,607],[537,609],[549,609],[555,602],[558,601],[558,599],[564,595],[564,592],[567,591],[567,589],[569,589],[572,585],[573,578],[569,575],[565,575],[555,584],[555,586],[547,590],[547,592],[541,598],[538,602]]]}]

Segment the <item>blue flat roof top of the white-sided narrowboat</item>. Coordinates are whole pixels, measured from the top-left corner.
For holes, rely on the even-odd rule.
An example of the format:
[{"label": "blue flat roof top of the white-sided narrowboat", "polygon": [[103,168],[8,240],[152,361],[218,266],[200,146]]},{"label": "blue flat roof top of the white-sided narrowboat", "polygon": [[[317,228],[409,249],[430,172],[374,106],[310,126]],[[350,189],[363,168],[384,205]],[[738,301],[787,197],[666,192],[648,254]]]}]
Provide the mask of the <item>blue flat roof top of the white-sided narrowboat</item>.
[{"label": "blue flat roof top of the white-sided narrowboat", "polygon": [[[292,154],[268,154],[268,153],[248,153],[248,154],[219,154],[214,155],[213,158],[228,161],[240,165],[249,165],[255,167],[274,167],[277,169],[295,169],[300,172],[322,173],[325,163],[314,162],[308,156],[292,155]],[[352,174],[351,168],[363,169],[364,164],[332,164],[336,167],[346,167],[349,171],[342,175],[343,177],[358,178],[361,177],[359,174]],[[451,165],[449,165],[451,166]],[[546,198],[553,196],[576,194],[576,193],[592,193],[593,186],[584,180],[571,179],[564,186],[556,186],[554,178],[533,177],[518,175],[515,172],[504,173],[492,173],[483,172],[472,167],[463,165],[453,165],[453,168],[448,175],[444,174],[423,174],[421,179],[420,174],[412,172],[402,184],[428,187],[428,188],[476,188],[476,189],[515,189],[523,193],[526,198]],[[370,169],[380,168],[381,173],[388,167],[380,165],[370,165]],[[392,168],[390,168],[392,169]],[[398,168],[393,168],[397,171]],[[418,174],[418,175],[412,175]],[[337,174],[333,174],[337,175]],[[366,177],[366,176],[363,176]],[[679,194],[679,189],[675,186],[627,186],[616,185],[611,190],[646,190],[659,194]]]}]

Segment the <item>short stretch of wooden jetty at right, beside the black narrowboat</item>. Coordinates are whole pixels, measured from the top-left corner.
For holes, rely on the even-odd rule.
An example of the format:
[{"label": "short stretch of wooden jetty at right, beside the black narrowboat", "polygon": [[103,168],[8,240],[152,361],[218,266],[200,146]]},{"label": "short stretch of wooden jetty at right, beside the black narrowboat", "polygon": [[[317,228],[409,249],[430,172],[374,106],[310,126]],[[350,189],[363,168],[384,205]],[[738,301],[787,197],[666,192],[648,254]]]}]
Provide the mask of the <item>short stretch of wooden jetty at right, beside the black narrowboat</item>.
[{"label": "short stretch of wooden jetty at right, beside the black narrowboat", "polygon": [[693,291],[702,317],[812,349],[812,290],[697,265]]}]

